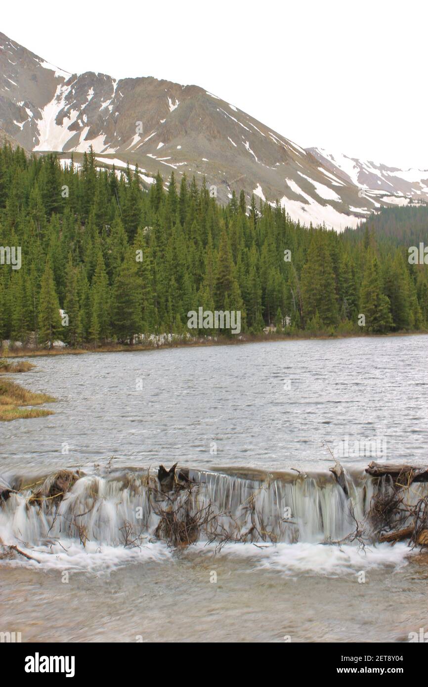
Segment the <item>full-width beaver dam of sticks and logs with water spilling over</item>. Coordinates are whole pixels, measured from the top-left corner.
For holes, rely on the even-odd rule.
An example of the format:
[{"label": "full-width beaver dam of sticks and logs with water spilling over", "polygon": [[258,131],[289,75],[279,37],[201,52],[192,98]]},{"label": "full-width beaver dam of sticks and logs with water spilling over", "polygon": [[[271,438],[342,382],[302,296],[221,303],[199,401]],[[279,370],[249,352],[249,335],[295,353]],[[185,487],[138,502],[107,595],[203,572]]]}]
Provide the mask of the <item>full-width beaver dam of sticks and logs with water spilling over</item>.
[{"label": "full-width beaver dam of sticks and logs with water spilling over", "polygon": [[350,473],[170,469],[62,470],[0,483],[1,556],[38,561],[38,550],[88,542],[170,548],[196,542],[359,547],[428,545],[428,468],[372,462]]}]

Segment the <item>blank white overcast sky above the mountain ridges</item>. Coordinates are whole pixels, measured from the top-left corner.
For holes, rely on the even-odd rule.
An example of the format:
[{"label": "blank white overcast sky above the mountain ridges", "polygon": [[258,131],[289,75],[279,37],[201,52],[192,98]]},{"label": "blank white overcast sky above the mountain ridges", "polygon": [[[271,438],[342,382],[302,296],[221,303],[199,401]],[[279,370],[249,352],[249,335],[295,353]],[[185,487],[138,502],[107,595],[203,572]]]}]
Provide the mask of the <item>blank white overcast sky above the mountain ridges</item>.
[{"label": "blank white overcast sky above the mountain ridges", "polygon": [[21,0],[0,30],[71,72],[196,84],[305,148],[428,168],[423,0]]}]

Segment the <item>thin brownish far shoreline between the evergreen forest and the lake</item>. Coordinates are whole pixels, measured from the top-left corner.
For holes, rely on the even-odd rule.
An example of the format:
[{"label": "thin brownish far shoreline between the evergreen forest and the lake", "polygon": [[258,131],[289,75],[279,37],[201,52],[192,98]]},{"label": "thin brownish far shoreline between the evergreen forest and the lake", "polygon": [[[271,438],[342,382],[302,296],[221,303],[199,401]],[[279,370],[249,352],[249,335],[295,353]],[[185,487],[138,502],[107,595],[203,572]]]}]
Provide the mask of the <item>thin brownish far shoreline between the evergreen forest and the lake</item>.
[{"label": "thin brownish far shoreline between the evergreen forest and the lake", "polygon": [[89,346],[85,348],[12,348],[5,353],[4,348],[0,348],[0,357],[8,358],[28,358],[28,357],[46,357],[56,355],[83,355],[86,353],[117,353],[117,352],[137,352],[143,350],[161,350],[166,348],[199,348],[201,346],[238,346],[245,343],[271,343],[273,341],[327,341],[327,340],[341,340],[341,339],[387,339],[390,337],[411,337],[411,336],[427,336],[428,330],[417,330],[409,332],[388,332],[386,334],[337,334],[337,335],[286,335],[286,334],[255,334],[255,335],[240,335],[239,338],[229,339],[228,337],[219,337],[216,340],[210,339],[204,341],[203,339],[196,339],[195,341],[165,341],[164,343],[157,343],[155,345],[150,343],[109,343],[106,346]]}]

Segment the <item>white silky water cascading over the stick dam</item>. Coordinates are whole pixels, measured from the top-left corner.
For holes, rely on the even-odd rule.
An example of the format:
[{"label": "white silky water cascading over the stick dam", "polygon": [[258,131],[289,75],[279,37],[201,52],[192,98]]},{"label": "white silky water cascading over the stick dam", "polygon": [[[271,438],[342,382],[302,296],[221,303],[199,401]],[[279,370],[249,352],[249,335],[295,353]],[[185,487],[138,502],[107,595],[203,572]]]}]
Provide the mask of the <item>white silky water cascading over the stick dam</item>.
[{"label": "white silky water cascading over the stick dam", "polygon": [[[345,473],[346,489],[332,473],[230,472],[190,470],[170,493],[155,474],[136,469],[75,474],[59,494],[56,475],[10,477],[0,498],[0,539],[27,553],[67,542],[82,550],[156,541],[337,542],[367,518],[373,495],[385,488],[363,471]],[[427,484],[414,484],[408,498],[416,503],[427,493]]]}]

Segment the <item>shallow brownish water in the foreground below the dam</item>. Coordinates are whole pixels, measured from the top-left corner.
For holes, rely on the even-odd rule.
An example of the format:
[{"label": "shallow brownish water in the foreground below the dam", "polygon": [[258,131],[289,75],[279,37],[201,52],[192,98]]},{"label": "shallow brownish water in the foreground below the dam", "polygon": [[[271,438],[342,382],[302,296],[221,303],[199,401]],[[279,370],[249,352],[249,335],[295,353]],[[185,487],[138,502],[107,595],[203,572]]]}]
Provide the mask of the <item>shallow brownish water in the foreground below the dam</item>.
[{"label": "shallow brownish water in the foreground below the dam", "polygon": [[[317,561],[300,550],[300,567],[284,574],[266,561],[260,567],[263,552],[249,549],[215,558],[191,549],[98,574],[69,567],[68,583],[60,571],[3,570],[2,627],[30,642],[406,642],[427,627],[426,559],[397,572],[399,551],[377,567],[367,556],[354,552],[351,565],[337,548],[318,546]],[[341,557],[343,565],[330,575],[305,572],[308,555],[317,564]]]}]

